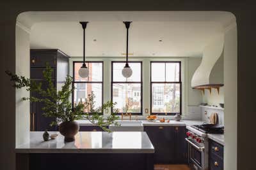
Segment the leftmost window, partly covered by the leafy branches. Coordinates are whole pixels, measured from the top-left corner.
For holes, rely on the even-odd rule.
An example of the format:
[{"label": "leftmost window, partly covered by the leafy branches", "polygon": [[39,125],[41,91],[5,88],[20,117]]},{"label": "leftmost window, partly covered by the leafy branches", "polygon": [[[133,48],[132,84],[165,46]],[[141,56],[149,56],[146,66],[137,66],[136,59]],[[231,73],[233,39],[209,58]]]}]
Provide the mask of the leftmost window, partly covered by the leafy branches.
[{"label": "leftmost window, partly covered by the leafy branches", "polygon": [[[81,78],[78,74],[83,62],[73,62],[73,106],[80,101],[84,102],[89,94],[95,95],[95,107],[103,103],[103,62],[86,62],[89,68],[89,76]],[[84,112],[87,112],[84,110]]]}]

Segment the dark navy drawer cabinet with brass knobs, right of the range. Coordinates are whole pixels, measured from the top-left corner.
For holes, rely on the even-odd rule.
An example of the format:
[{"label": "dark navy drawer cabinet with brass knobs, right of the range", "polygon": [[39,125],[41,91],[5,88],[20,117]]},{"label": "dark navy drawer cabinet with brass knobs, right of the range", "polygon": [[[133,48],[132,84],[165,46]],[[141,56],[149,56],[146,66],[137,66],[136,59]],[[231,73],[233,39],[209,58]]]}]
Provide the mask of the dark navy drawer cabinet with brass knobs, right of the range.
[{"label": "dark navy drawer cabinet with brass knobs, right of the range", "polygon": [[224,146],[209,140],[209,169],[223,170]]}]

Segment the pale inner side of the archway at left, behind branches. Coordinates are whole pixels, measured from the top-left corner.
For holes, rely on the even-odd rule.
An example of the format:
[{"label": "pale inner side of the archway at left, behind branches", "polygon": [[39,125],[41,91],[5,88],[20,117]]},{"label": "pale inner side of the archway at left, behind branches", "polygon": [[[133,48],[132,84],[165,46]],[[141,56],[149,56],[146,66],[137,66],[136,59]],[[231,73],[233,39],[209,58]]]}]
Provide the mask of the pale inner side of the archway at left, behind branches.
[{"label": "pale inner side of the archway at left, behind branches", "polygon": [[[29,77],[29,32],[16,25],[16,74]],[[22,101],[29,97],[26,89],[16,89],[16,146],[29,139],[29,102]]]}]

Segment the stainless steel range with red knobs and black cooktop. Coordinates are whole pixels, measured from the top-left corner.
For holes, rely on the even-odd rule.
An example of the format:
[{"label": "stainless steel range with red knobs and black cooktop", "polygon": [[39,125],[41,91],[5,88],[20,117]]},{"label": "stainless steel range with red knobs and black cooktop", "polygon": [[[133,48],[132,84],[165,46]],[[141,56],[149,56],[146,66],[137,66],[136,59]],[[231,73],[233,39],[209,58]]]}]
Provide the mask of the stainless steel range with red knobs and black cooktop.
[{"label": "stainless steel range with red knobs and black cooktop", "polygon": [[189,166],[194,170],[208,169],[208,138],[207,134],[223,134],[224,127],[212,124],[187,126]]}]

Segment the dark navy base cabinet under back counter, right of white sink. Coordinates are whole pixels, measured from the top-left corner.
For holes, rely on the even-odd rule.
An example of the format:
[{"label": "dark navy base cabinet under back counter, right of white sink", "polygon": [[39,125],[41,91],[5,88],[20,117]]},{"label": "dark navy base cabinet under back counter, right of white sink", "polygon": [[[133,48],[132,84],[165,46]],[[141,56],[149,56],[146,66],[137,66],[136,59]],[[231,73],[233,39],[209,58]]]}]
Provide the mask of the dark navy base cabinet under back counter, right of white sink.
[{"label": "dark navy base cabinet under back counter, right of white sink", "polygon": [[145,126],[154,145],[155,164],[186,164],[186,127]]}]

